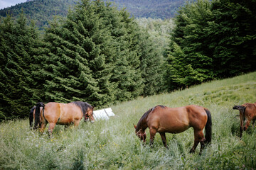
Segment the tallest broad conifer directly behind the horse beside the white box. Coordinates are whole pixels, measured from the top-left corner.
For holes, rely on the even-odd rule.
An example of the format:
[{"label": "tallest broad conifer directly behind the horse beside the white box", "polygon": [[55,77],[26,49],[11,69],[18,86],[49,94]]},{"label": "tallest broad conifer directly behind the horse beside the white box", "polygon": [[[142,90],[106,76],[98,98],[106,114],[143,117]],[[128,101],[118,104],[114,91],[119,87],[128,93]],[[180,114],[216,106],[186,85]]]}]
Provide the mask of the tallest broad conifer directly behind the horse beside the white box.
[{"label": "tallest broad conifer directly behind the horse beside the white box", "polygon": [[[100,1],[82,1],[68,18],[46,32],[48,101],[87,101],[103,106],[116,100],[117,85],[110,81],[114,48],[110,29],[100,15]],[[110,7],[109,7],[110,8]]]}]

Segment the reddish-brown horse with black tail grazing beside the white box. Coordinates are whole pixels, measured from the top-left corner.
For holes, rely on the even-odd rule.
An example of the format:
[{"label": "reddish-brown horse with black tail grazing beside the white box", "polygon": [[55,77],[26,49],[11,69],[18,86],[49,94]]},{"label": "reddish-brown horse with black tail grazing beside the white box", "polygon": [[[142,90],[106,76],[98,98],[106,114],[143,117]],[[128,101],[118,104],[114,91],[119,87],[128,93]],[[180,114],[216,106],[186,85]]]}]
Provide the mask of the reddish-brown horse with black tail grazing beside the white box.
[{"label": "reddish-brown horse with black tail grazing beside the white box", "polygon": [[50,136],[56,124],[70,125],[74,123],[75,126],[78,126],[83,116],[85,121],[87,118],[91,122],[95,121],[93,118],[93,107],[89,103],[82,101],[74,101],[72,103],[50,102],[46,104],[40,102],[36,104],[36,108],[32,109],[35,110],[33,116],[35,118],[34,129],[37,129],[40,125],[40,132],[43,132],[49,123],[48,132]]}]

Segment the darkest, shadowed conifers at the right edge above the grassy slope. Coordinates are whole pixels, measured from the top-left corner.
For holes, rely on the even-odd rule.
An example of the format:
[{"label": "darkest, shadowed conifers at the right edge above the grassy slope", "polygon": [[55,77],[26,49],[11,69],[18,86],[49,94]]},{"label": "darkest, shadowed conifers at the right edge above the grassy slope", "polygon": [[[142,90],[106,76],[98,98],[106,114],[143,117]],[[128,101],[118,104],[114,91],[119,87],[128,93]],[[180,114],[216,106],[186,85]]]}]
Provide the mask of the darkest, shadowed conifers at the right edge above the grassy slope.
[{"label": "darkest, shadowed conifers at the right edge above the grassy slope", "polygon": [[218,77],[230,77],[255,70],[256,2],[214,1],[209,24],[213,66]]}]

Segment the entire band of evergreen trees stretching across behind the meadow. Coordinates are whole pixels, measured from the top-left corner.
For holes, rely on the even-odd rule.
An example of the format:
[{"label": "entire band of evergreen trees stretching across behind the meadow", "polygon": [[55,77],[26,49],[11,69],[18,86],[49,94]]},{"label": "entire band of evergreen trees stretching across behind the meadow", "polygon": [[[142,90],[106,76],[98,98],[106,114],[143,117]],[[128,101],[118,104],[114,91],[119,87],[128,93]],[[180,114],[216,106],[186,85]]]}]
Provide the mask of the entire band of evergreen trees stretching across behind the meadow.
[{"label": "entire band of evergreen trees stretching across behind the meadow", "polygon": [[102,108],[256,69],[254,0],[187,2],[164,20],[81,0],[43,30],[24,11],[0,19],[0,120],[39,101]]}]

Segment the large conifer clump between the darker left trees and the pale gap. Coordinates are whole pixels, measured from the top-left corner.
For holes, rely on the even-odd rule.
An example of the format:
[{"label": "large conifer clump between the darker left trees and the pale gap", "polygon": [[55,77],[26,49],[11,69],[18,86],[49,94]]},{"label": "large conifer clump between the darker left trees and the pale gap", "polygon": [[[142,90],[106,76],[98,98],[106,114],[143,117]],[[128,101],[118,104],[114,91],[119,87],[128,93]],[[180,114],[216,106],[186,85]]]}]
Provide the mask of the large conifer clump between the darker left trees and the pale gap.
[{"label": "large conifer clump between the darker left trees and the pale gap", "polygon": [[142,94],[138,39],[129,13],[103,1],[81,1],[46,30],[46,101],[106,106]]}]

